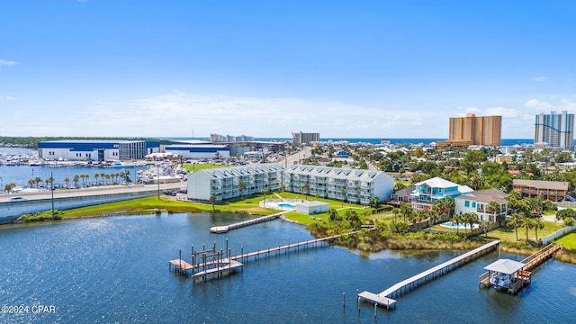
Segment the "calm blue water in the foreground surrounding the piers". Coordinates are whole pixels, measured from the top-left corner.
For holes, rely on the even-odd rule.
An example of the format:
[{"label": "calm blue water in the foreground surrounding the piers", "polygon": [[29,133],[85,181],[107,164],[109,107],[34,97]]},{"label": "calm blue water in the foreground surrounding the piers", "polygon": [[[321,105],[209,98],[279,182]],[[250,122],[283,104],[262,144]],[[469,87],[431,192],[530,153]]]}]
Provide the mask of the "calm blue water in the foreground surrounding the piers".
[{"label": "calm blue water in the foreground surrounding the piers", "polygon": [[[356,289],[378,293],[461,252],[362,257],[340,247],[261,258],[243,272],[193,284],[168,270],[168,260],[190,259],[191,245],[214,241],[239,253],[311,238],[302,226],[274,220],[209,232],[233,215],[163,214],[66,220],[0,229],[0,304],[53,305],[55,314],[2,314],[3,323],[374,323],[374,307]],[[532,286],[511,296],[478,287],[493,252],[398,298],[393,323],[568,323],[576,310],[576,266],[552,260]],[[503,256],[518,259],[516,256]],[[346,293],[346,309],[343,307]]]}]

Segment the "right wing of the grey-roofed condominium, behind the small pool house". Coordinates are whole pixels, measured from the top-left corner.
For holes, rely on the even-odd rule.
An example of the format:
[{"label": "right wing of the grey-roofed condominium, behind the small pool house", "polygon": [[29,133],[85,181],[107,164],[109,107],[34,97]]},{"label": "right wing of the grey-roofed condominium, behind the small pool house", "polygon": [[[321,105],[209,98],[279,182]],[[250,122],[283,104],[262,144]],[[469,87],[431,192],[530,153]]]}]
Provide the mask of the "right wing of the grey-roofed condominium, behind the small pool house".
[{"label": "right wing of the grey-roofed condominium, behind the small pool house", "polygon": [[288,192],[368,204],[374,196],[390,199],[394,179],[382,171],[296,165],[284,170],[284,186]]}]

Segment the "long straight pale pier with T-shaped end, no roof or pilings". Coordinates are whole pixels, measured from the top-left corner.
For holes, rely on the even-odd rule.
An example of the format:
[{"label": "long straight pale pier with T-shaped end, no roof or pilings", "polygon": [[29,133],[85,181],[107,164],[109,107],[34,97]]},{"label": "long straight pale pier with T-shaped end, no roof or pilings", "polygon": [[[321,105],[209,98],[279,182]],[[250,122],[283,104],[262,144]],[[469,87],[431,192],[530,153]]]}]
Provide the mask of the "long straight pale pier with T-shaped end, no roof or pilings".
[{"label": "long straight pale pier with T-shaped end, no roof or pilings", "polygon": [[410,290],[418,287],[420,284],[428,283],[428,281],[434,280],[439,276],[447,274],[455,268],[468,263],[470,260],[483,255],[487,251],[491,251],[499,244],[500,240],[492,241],[486,245],[483,245],[482,247],[474,248],[472,251],[466,252],[461,256],[448,260],[443,264],[434,266],[424,272],[419,273],[418,275],[413,275],[398,284],[392,285],[392,287],[384,290],[382,293],[370,293],[365,291],[358,293],[356,298],[390,309],[396,305],[396,300],[392,299],[394,295],[399,296],[401,293],[408,293]]}]

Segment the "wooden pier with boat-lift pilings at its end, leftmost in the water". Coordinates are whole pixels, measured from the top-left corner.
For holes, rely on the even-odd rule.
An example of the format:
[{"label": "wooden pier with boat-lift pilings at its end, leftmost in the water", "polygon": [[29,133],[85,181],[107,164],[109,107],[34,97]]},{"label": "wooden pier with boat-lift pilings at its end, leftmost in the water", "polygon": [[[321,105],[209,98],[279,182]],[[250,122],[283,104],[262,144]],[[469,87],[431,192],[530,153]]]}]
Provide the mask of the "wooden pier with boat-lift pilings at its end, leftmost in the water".
[{"label": "wooden pier with boat-lift pilings at its end, leftmost in the water", "polygon": [[[269,247],[254,252],[244,253],[244,247],[241,247],[239,255],[232,256],[228,249],[228,239],[226,240],[227,251],[216,250],[216,243],[214,247],[206,249],[203,247],[202,251],[194,252],[192,247],[192,263],[188,263],[182,259],[182,250],[180,250],[180,257],[175,260],[170,260],[168,265],[170,270],[174,268],[175,272],[181,275],[190,275],[193,279],[202,278],[206,280],[209,276],[220,278],[223,275],[230,274],[238,268],[242,268],[242,262],[249,262],[250,258],[259,260],[260,256],[270,257],[270,255],[280,256],[282,252],[288,255],[291,250],[300,250],[300,247],[318,247],[319,243],[329,242],[329,240],[340,238],[347,235],[356,235],[360,231],[352,231],[345,234],[332,235],[325,238],[314,238],[302,242],[290,243],[284,246]],[[239,260],[239,261],[238,261]]]}]

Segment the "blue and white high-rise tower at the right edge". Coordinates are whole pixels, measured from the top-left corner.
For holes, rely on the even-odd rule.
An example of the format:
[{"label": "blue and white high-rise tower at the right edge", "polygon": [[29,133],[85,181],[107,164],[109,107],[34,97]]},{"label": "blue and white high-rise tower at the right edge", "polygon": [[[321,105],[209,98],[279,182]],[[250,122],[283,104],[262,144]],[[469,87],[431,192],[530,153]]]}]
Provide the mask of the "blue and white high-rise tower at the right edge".
[{"label": "blue and white high-rise tower at the right edge", "polygon": [[554,148],[574,148],[574,114],[563,111],[536,115],[534,143],[547,143]]}]

